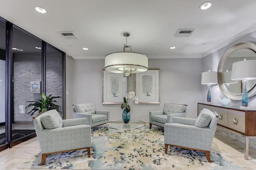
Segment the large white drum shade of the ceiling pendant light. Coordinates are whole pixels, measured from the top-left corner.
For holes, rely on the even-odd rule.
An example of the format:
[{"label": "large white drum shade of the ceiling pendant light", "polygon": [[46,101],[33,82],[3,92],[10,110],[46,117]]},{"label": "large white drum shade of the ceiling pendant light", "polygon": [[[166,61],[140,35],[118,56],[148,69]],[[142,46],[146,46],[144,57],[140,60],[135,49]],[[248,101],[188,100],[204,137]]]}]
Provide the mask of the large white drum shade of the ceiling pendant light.
[{"label": "large white drum shade of the ceiling pendant light", "polygon": [[112,73],[124,73],[124,70],[132,73],[148,71],[148,57],[134,52],[116,52],[105,56],[105,70]]}]

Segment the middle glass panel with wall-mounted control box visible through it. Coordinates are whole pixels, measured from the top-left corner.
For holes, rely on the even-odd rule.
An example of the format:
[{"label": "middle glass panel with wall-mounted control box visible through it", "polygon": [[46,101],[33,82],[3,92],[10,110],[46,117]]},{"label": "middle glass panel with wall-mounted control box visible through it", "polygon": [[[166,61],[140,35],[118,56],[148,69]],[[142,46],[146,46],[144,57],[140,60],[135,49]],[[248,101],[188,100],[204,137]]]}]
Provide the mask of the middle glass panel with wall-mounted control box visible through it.
[{"label": "middle glass panel with wall-mounted control box visible through it", "polygon": [[12,142],[14,142],[35,133],[32,116],[38,112],[30,113],[34,107],[26,107],[31,103],[28,101],[41,99],[42,41],[16,27],[13,28],[12,41],[14,75]]}]

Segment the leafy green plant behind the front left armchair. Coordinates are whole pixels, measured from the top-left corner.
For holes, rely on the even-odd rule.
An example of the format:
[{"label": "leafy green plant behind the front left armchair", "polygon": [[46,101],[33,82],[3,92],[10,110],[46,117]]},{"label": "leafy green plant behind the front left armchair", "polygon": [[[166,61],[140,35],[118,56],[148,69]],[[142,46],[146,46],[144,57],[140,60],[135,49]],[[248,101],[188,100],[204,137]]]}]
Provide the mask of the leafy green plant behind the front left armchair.
[{"label": "leafy green plant behind the front left armchair", "polygon": [[40,113],[40,112],[43,112],[43,111],[49,111],[49,110],[52,110],[52,109],[56,109],[56,111],[58,111],[62,115],[62,112],[60,111],[60,106],[54,104],[55,102],[57,102],[54,99],[60,98],[59,96],[52,97],[52,94],[50,94],[47,97],[44,93],[42,93],[41,96],[42,96],[43,100],[26,101],[26,102],[34,102],[34,103],[30,103],[26,107],[26,108],[28,108],[28,107],[33,107],[34,106],[34,108],[28,114],[31,113],[31,115],[34,115],[34,113],[36,111],[39,111],[39,113]]}]

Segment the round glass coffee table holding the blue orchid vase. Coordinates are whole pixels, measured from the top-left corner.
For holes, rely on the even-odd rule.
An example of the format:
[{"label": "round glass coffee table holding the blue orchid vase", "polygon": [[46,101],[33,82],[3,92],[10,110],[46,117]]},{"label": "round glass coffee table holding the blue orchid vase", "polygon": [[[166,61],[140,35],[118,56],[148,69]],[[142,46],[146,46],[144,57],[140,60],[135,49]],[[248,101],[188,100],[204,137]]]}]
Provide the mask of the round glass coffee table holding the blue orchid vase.
[{"label": "round glass coffee table holding the blue orchid vase", "polygon": [[144,127],[144,136],[146,134],[146,123],[140,120],[130,120],[129,123],[124,123],[123,120],[109,121],[106,126],[108,127],[108,142],[110,142],[110,129],[117,130],[132,130],[132,144],[134,144],[134,130]]}]

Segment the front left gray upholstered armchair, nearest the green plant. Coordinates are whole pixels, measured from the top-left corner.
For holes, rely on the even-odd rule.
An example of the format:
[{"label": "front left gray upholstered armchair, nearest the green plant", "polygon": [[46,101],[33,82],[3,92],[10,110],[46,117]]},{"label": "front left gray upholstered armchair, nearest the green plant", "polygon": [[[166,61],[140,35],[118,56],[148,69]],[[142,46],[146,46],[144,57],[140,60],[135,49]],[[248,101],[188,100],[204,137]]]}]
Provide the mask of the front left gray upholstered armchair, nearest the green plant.
[{"label": "front left gray upholstered armchair, nearest the green plant", "polygon": [[43,165],[47,154],[87,149],[90,157],[91,127],[86,118],[62,120],[56,110],[33,117],[36,136],[42,153]]}]

